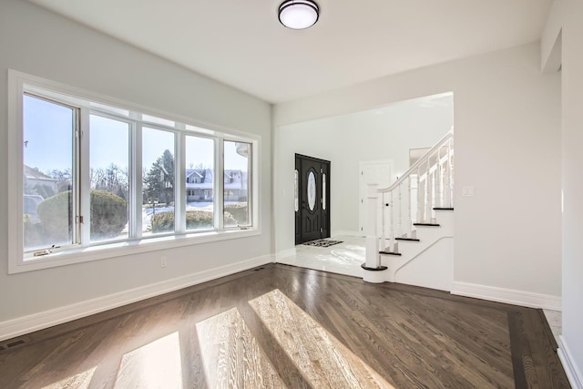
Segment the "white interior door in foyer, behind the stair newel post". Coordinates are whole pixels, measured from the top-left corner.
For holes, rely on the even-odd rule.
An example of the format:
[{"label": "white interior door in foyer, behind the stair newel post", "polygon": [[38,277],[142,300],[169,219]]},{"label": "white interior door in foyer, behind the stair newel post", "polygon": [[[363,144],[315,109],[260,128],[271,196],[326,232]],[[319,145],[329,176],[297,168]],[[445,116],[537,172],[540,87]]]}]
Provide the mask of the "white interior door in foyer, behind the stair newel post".
[{"label": "white interior door in foyer, behind the stair newel post", "polygon": [[[373,160],[373,161],[363,161],[360,162],[360,173],[359,176],[359,212],[358,220],[359,227],[358,230],[361,236],[364,236],[364,225],[366,224],[366,189],[367,184],[374,183],[378,185],[378,188],[385,188],[391,185],[394,181],[393,179],[393,159],[385,160]],[[383,210],[383,199],[379,195],[379,200],[377,204],[379,212]],[[380,213],[379,213],[380,215]],[[382,230],[382,218],[378,218],[377,231]]]}]

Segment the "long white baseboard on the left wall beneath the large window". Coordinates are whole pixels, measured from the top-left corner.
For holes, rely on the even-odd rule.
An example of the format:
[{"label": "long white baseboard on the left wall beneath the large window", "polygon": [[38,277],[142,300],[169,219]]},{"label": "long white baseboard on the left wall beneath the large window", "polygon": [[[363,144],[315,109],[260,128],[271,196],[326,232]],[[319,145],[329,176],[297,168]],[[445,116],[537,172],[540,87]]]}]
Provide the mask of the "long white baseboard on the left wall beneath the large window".
[{"label": "long white baseboard on the left wall beneath the large window", "polygon": [[63,322],[70,322],[94,313],[107,311],[131,302],[139,302],[160,294],[178,291],[202,282],[208,282],[239,271],[245,271],[273,261],[272,255],[264,255],[247,261],[230,263],[208,271],[199,271],[171,280],[156,282],[124,292],[109,294],[85,302],[55,308],[45,312],[0,322],[0,341],[26,333],[33,333]]}]

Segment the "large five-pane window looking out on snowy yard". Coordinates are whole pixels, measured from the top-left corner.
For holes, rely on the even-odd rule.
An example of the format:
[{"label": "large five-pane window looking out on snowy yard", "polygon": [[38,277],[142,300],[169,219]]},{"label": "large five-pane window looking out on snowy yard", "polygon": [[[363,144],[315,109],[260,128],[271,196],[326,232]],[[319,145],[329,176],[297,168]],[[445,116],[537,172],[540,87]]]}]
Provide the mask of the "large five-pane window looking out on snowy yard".
[{"label": "large five-pane window looking out on snowy yard", "polygon": [[12,177],[22,190],[11,191],[22,204],[16,250],[11,242],[18,266],[257,230],[256,139],[24,81],[19,94],[12,113],[22,120],[11,126],[13,144],[22,142],[11,157],[22,167]]}]

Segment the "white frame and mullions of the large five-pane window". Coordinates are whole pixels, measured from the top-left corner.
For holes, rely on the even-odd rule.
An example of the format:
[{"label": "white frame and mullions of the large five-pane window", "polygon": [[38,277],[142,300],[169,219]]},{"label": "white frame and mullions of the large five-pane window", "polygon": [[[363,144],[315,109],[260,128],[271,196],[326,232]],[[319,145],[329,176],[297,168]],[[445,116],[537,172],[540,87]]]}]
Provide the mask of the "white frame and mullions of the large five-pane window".
[{"label": "white frame and mullions of the large five-pane window", "polygon": [[[41,91],[38,93],[37,91]],[[155,118],[171,120],[176,123],[174,128],[166,127],[175,133],[175,232],[169,234],[160,234],[153,237],[142,238],[138,233],[138,239],[124,241],[106,241],[93,242],[67,250],[54,251],[42,257],[26,258],[24,256],[24,230],[23,230],[23,96],[25,92],[30,92],[42,97],[54,99],[56,102],[72,104],[74,107],[80,107],[81,119],[80,130],[88,129],[88,102],[102,104],[108,107],[128,110],[129,116],[126,118],[130,122],[129,131],[134,142],[130,142],[130,197],[134,200],[134,207],[129,209],[128,217],[130,218],[130,229],[133,224],[134,229],[141,231],[141,223],[135,220],[141,214],[141,171],[137,172],[135,161],[141,161],[141,131],[139,126],[143,123],[138,122],[136,125],[135,112],[141,115],[148,115]],[[35,93],[37,92],[37,93]],[[79,101],[87,102],[87,106],[79,105]],[[91,111],[97,113],[100,109],[95,106],[90,107]],[[99,113],[101,115],[101,112]],[[104,116],[110,116],[105,113]],[[112,118],[120,119],[118,115]],[[148,127],[164,129],[165,125],[148,122]],[[183,184],[186,182],[183,169],[185,168],[184,159],[184,138],[186,134],[201,136],[215,139],[215,162],[213,190],[215,193],[215,229],[204,231],[185,231],[185,214],[186,210],[186,191],[183,190]],[[80,142],[81,151],[81,169],[88,167],[88,158],[83,149],[89,147],[87,136],[82,137]],[[251,143],[251,166],[249,171],[250,192],[248,197],[249,206],[251,207],[251,226],[242,229],[224,229],[222,223],[223,214],[223,162],[222,147],[223,141],[240,141]],[[87,159],[87,160],[86,160]],[[50,81],[42,77],[27,75],[13,69],[8,70],[8,220],[11,228],[8,230],[8,273],[19,273],[24,271],[36,271],[48,269],[57,266],[64,266],[74,263],[97,261],[101,259],[115,258],[138,254],[147,251],[159,251],[182,246],[196,245],[210,241],[225,241],[231,239],[240,239],[245,237],[257,236],[261,234],[261,213],[260,213],[260,160],[261,160],[261,137],[243,133],[231,128],[222,128],[217,125],[203,123],[192,118],[180,117],[176,114],[164,112],[151,107],[143,107],[137,104],[128,103],[115,97],[106,97],[94,92],[90,92],[77,87],[66,86],[55,81]],[[141,162],[140,162],[141,164]],[[220,172],[217,174],[216,172]],[[88,177],[81,177],[79,181],[81,191],[87,191],[89,188]],[[133,188],[133,189],[132,189]],[[87,194],[88,198],[88,194]],[[128,201],[128,206],[130,202]],[[220,204],[220,206],[218,205]],[[81,213],[87,213],[88,204],[82,204],[84,207]],[[139,213],[138,213],[139,212]],[[132,221],[133,220],[133,221]],[[138,220],[138,221],[139,221]],[[88,234],[88,227],[83,233]],[[87,241],[87,236],[85,237]]]}]

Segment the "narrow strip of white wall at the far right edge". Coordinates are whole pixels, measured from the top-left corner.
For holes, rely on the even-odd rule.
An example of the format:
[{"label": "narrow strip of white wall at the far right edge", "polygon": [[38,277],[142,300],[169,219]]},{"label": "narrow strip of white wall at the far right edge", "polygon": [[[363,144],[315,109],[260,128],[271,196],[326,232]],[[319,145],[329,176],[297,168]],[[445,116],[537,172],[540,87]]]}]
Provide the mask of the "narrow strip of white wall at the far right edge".
[{"label": "narrow strip of white wall at the far right edge", "polygon": [[[553,5],[543,36],[542,66],[562,64],[563,333],[559,356],[574,388],[583,388],[583,2]],[[561,36],[558,46],[552,46]],[[550,58],[550,59],[549,59]]]}]

